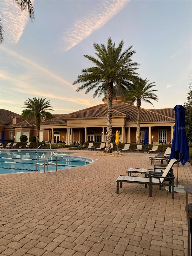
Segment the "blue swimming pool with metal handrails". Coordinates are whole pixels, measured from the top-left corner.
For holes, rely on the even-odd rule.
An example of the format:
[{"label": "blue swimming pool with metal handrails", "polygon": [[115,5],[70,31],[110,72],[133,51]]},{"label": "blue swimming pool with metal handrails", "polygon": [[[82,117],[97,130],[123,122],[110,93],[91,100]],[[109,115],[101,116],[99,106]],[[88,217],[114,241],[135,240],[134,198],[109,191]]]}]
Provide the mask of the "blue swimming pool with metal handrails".
[{"label": "blue swimming pool with metal handrails", "polygon": [[[57,170],[79,167],[93,162],[92,159],[72,156],[73,153],[59,152],[53,150],[10,150],[0,151],[0,174],[3,173],[23,173],[35,172],[36,160],[38,159],[37,171],[44,171],[44,154],[45,155],[45,170],[55,170],[56,155],[57,155]],[[42,156],[41,156],[42,155]],[[51,156],[52,155],[52,156]]]}]

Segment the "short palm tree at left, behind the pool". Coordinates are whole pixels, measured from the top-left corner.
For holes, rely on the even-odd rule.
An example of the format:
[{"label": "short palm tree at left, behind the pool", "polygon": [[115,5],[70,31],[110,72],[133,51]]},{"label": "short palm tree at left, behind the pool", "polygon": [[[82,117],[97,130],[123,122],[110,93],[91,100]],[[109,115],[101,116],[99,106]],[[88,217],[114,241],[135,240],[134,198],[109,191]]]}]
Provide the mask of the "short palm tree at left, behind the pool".
[{"label": "short palm tree at left, behind the pool", "polygon": [[26,109],[22,111],[21,118],[22,119],[32,119],[35,117],[35,125],[37,128],[37,142],[39,142],[39,130],[41,125],[41,120],[48,117],[49,119],[54,118],[51,113],[47,112],[47,110],[52,110],[51,103],[49,101],[45,101],[46,99],[40,99],[33,97],[33,99],[29,99],[24,102],[26,105]]}]

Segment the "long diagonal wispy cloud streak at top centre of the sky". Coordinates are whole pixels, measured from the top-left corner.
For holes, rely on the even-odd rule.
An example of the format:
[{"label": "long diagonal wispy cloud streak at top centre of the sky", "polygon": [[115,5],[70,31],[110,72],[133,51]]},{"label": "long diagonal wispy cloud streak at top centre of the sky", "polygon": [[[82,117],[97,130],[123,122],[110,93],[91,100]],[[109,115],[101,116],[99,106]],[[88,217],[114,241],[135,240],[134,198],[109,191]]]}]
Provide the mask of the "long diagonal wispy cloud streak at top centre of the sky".
[{"label": "long diagonal wispy cloud streak at top centre of the sky", "polygon": [[129,0],[98,1],[99,5],[87,17],[79,20],[64,33],[64,53],[79,44],[83,39],[88,38],[95,30],[103,27],[119,11],[121,11]]}]

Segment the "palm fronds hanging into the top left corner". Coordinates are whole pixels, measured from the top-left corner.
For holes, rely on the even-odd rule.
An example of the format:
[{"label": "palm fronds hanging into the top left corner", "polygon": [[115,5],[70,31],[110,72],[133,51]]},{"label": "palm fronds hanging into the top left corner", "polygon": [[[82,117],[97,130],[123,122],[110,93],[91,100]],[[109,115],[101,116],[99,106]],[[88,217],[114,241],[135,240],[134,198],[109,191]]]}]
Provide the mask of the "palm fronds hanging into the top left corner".
[{"label": "palm fronds hanging into the top left corner", "polygon": [[[28,11],[29,17],[32,22],[35,20],[35,14],[31,0],[13,0],[13,2],[16,2],[16,4],[19,5],[21,11]],[[0,14],[0,44],[3,43],[3,26],[1,22],[1,17],[2,15]]]}]

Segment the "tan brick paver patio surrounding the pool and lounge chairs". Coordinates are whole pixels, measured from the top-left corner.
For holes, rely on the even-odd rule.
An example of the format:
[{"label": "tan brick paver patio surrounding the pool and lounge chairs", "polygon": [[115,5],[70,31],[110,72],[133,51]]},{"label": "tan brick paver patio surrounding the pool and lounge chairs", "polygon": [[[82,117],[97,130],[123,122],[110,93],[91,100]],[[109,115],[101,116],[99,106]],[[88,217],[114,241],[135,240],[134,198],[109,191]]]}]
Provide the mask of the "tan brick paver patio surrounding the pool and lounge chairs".
[{"label": "tan brick paver patio surrounding the pool and lounge chairs", "polygon": [[[116,194],[115,180],[128,168],[153,168],[148,154],[71,152],[95,162],[58,173],[0,175],[0,255],[186,255],[185,193],[173,200],[153,186],[149,197],[144,185],[123,183]],[[191,184],[188,163],[179,166],[179,182]]]}]

